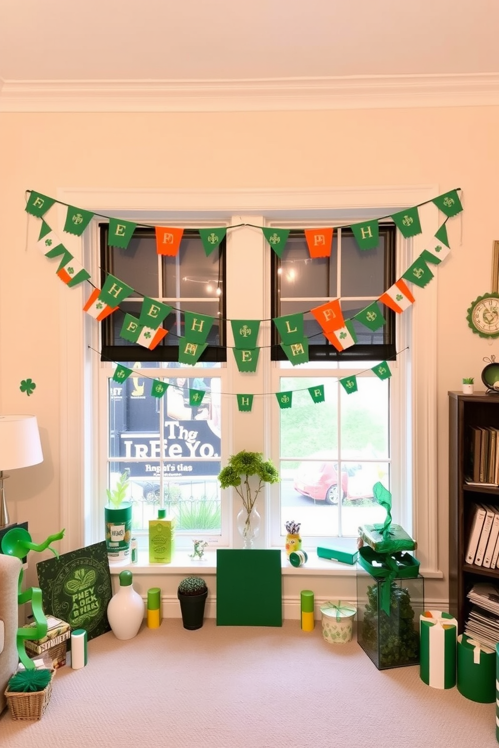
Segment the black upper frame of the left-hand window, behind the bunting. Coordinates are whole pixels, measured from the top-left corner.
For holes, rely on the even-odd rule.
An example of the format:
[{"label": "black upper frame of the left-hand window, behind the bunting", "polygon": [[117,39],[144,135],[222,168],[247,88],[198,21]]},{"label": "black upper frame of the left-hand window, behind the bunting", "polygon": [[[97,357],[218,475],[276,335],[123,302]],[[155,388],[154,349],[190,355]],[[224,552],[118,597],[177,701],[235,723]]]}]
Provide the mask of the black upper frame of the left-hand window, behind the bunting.
[{"label": "black upper frame of the left-hand window, behind the bunting", "polygon": [[[99,237],[100,237],[100,283],[105,282],[105,278],[109,273],[113,273],[113,253],[112,248],[108,246],[108,228],[109,224],[99,224]],[[155,229],[153,226],[149,227],[137,227],[134,231],[133,236],[147,236],[155,237]],[[200,239],[199,233],[195,229],[184,230],[183,236],[196,236]],[[226,283],[226,239],[220,243],[218,247],[218,281],[219,287],[221,288],[221,295],[218,301],[219,316],[219,335],[220,344],[213,345],[208,344],[206,349],[200,355],[198,361],[200,363],[224,363],[227,361],[227,319],[226,319],[226,295],[225,295],[225,283]],[[156,259],[156,256],[155,256]],[[140,289],[136,289],[140,292]],[[202,299],[201,299],[202,300]],[[101,334],[101,345],[100,345],[100,358],[101,361],[141,361],[141,362],[172,362],[179,360],[179,346],[162,345],[159,343],[155,349],[150,351],[144,346],[138,346],[136,343],[128,343],[127,345],[115,345],[111,343],[113,340],[113,326],[114,320],[112,316],[108,316],[106,319],[100,322],[100,334]]]}]

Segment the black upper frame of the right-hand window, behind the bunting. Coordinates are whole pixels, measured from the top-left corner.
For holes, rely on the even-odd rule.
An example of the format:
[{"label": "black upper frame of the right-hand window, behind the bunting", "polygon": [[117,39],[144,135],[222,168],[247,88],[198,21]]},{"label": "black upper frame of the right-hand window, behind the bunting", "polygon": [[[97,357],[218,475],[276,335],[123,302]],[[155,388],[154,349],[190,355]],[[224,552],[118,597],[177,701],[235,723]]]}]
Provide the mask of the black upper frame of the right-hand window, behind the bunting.
[{"label": "black upper frame of the right-hand window, behind the bunting", "polygon": [[[353,236],[349,227],[341,227],[342,233]],[[380,236],[385,236],[385,262],[383,276],[385,281],[385,290],[390,288],[396,281],[396,226],[395,224],[379,224]],[[303,230],[292,230],[290,236],[303,236]],[[281,275],[278,270],[281,268],[281,258],[275,252],[272,252],[271,259],[271,309],[272,318],[282,316],[281,314]],[[336,298],[336,297],[331,297]],[[340,297],[341,298],[341,297]],[[316,304],[322,304],[319,302]],[[313,308],[313,307],[311,307]],[[324,343],[313,343],[309,340],[309,360],[317,362],[327,361],[389,361],[394,360],[397,356],[396,349],[396,314],[388,307],[382,306],[383,315],[386,324],[383,326],[384,343],[373,343],[370,345],[356,343],[355,346],[337,351],[332,343],[325,340]],[[271,333],[271,359],[272,361],[288,361],[287,355],[281,348],[281,336],[275,325],[272,325]]]}]

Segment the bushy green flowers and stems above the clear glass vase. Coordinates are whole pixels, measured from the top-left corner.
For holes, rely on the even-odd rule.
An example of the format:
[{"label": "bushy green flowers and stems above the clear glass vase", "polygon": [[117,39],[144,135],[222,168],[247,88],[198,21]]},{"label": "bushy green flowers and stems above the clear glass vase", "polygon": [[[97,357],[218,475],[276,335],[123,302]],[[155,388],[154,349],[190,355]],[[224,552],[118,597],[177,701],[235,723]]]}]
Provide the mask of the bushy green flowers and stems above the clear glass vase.
[{"label": "bushy green flowers and stems above the clear glass vase", "polygon": [[[251,476],[258,478],[258,483],[253,490],[251,490],[249,480]],[[261,452],[247,452],[246,450],[232,455],[226,467],[218,473],[221,488],[229,488],[229,486],[236,488],[248,515],[263,486],[266,483],[278,483],[279,480],[278,470],[272,460],[264,461]]]}]

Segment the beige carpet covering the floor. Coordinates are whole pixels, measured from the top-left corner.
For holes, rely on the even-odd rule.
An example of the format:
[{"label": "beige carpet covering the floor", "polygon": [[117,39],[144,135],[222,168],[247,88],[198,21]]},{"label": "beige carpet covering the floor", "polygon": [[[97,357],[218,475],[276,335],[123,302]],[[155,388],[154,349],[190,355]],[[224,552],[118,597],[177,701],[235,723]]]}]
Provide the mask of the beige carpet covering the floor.
[{"label": "beige carpet covering the floor", "polygon": [[186,631],[180,619],[88,644],[39,722],[0,717],[1,748],[497,748],[495,704],[379,671],[354,640],[283,628]]}]

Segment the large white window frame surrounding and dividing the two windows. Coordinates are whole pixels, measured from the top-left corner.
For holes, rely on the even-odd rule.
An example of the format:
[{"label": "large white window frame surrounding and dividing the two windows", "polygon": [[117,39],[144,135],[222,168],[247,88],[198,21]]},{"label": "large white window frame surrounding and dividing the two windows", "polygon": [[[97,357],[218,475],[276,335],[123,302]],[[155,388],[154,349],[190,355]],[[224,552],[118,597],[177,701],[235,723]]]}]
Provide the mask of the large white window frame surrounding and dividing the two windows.
[{"label": "large white window frame surrounding and dividing the two windows", "polygon": [[[84,209],[93,210],[104,215],[114,215],[120,218],[135,217],[154,223],[165,222],[181,216],[186,224],[192,225],[199,221],[202,225],[219,225],[220,221],[235,223],[253,223],[258,221],[276,221],[287,224],[288,221],[305,222],[313,218],[314,221],[324,221],[331,213],[337,212],[338,221],[346,224],[356,216],[365,217],[388,215],[406,206],[412,206],[431,200],[438,194],[438,185],[400,186],[400,187],[359,187],[359,188],[321,188],[321,189],[254,189],[254,190],[132,190],[100,188],[61,188],[57,199],[61,203],[78,205]],[[168,206],[168,211],[164,206]],[[420,209],[423,211],[423,209]],[[64,218],[61,209],[61,225]],[[339,218],[341,216],[341,218]],[[227,218],[229,217],[229,218]],[[426,230],[435,233],[438,229],[438,216],[428,212],[426,215]],[[433,225],[434,224],[434,225]],[[234,232],[227,236],[227,260],[230,258]],[[242,255],[251,257],[251,263],[260,268],[263,285],[260,289],[250,289],[241,297],[251,298],[253,308],[245,307],[244,316],[261,316],[254,314],[258,307],[264,309],[263,299],[269,299],[269,273],[263,272],[266,263],[265,246],[261,232],[246,230],[245,237],[239,236],[238,246],[242,246]],[[426,234],[427,236],[428,234]],[[96,236],[92,236],[92,228],[85,232],[82,238],[71,240],[70,251],[76,259],[87,263],[88,253]],[[423,250],[423,236],[415,237],[404,242],[407,266],[411,258],[415,258]],[[246,253],[251,254],[246,254]],[[244,286],[245,269],[236,263],[227,263],[227,287],[232,282]],[[63,294],[64,291],[64,294]],[[91,497],[98,490],[97,478],[92,473],[89,456],[95,448],[94,423],[96,420],[97,400],[94,397],[95,386],[92,375],[92,357],[87,349],[85,326],[91,320],[84,319],[82,305],[76,302],[77,289],[71,294],[67,289],[61,289],[61,517],[67,533],[62,550],[78,548],[91,542],[95,538],[96,524],[99,518],[93,517],[91,512]],[[406,324],[411,325],[411,349],[400,359],[401,365],[407,367],[404,381],[408,381],[411,396],[406,411],[407,426],[411,432],[412,459],[397,461],[401,472],[400,485],[406,485],[414,497],[411,521],[405,521],[418,539],[418,558],[421,571],[428,577],[440,577],[437,555],[437,497],[436,497],[436,299],[437,278],[424,289],[424,300],[414,304],[410,315],[404,315]],[[227,302],[228,302],[227,296]],[[244,301],[241,298],[241,303]],[[230,309],[227,304],[227,317],[236,318],[239,315],[236,308]],[[264,316],[268,319],[267,314]],[[88,334],[88,331],[87,331]],[[263,325],[262,346],[269,345],[269,325]],[[230,339],[228,341],[230,345]],[[97,347],[97,346],[96,346]],[[227,357],[228,359],[229,357]],[[227,361],[228,364],[228,361]],[[272,392],[272,381],[275,376],[272,367],[259,367],[261,373],[254,382],[254,391],[260,393]],[[236,392],[237,373],[235,366],[227,365],[227,391]],[[400,378],[402,380],[402,377]],[[74,393],[85,393],[81,399],[76,399]],[[66,405],[64,405],[66,404]],[[272,418],[275,417],[275,407],[269,397],[261,398],[261,402],[254,408],[254,415],[263,423],[263,449],[273,452],[272,447]],[[272,413],[271,408],[274,408]],[[229,408],[224,408],[224,411]],[[242,443],[242,430],[239,429],[241,418],[247,414],[238,414],[231,408],[231,417],[225,417],[222,423],[224,451],[222,463],[230,453],[238,449],[257,449],[260,444],[251,444],[251,440],[261,441],[260,437],[245,434]],[[271,417],[272,416],[272,417]],[[223,419],[224,420],[224,419]],[[248,423],[248,422],[246,422]],[[91,437],[94,435],[94,438]],[[410,466],[415,469],[411,470]],[[266,507],[267,509],[268,507]],[[232,530],[236,512],[232,512]],[[269,542],[270,529],[268,523],[263,523],[263,536]]]}]

